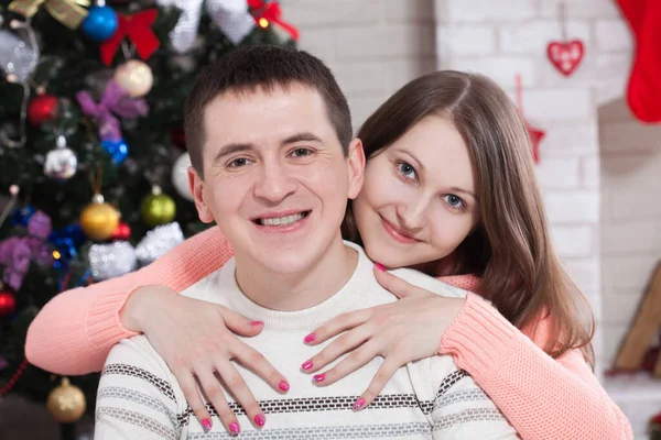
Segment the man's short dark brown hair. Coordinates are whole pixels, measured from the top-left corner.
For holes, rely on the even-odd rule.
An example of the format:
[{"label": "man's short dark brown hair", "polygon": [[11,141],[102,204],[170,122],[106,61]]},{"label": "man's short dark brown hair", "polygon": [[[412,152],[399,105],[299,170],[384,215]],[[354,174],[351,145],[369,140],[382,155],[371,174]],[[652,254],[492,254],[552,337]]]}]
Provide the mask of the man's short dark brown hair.
[{"label": "man's short dark brown hair", "polygon": [[197,173],[203,176],[204,112],[214,98],[228,90],[253,90],[258,87],[272,90],[294,82],[319,92],[330,124],[347,154],[353,138],[351,113],[330,69],[304,51],[270,45],[247,46],[212,63],[197,76],[186,99],[186,145]]}]

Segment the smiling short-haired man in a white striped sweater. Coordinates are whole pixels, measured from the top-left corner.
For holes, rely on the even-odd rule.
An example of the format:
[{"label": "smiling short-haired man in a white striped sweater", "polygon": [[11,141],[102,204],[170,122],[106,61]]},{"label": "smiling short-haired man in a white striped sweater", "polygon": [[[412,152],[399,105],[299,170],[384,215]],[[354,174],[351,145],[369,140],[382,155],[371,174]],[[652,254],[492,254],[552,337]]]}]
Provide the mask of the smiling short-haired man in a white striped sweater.
[{"label": "smiling short-haired man in a white striped sweater", "polygon": [[[231,435],[242,429],[260,439],[516,438],[449,356],[400,369],[382,395],[358,411],[356,392],[369,384],[380,360],[324,387],[300,371],[301,360],[318,350],[301,343],[312,329],[343,312],[394,300],[376,282],[362,250],[342,240],[347,198],[360,190],[365,156],[360,141],[351,141],[349,109],[327,67],[281,47],[230,53],[196,80],[186,105],[186,140],[199,218],[217,222],[235,257],[183,295],[262,321],[264,330],[246,342],[291,380],[289,393],[279,394],[250,365],[236,365],[266,414],[246,417],[248,409],[237,404],[241,396],[234,396],[230,408],[239,422],[230,424]],[[397,273],[438,294],[463,295],[422,274]],[[212,389],[206,385],[217,380],[198,381]],[[112,349],[99,385],[96,438],[229,436],[220,424],[206,432],[191,416],[180,384],[144,337]]]}]

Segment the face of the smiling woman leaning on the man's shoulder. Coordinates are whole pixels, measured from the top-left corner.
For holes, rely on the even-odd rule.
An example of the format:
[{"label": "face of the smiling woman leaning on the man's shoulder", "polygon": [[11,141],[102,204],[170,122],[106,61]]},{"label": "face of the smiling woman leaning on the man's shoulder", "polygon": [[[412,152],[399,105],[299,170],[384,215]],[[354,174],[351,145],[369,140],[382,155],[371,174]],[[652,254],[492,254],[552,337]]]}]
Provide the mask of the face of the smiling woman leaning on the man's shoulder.
[{"label": "face of the smiling woman leaning on the man's shoulder", "polygon": [[468,148],[454,123],[426,117],[369,158],[354,216],[368,255],[388,267],[453,253],[479,220]]}]

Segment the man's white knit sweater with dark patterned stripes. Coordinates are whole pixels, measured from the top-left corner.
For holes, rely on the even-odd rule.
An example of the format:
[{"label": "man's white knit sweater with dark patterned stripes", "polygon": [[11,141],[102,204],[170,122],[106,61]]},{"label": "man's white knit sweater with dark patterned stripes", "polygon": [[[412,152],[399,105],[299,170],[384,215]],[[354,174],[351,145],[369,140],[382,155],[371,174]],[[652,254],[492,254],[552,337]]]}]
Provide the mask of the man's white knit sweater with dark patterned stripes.
[{"label": "man's white knit sweater with dark patterned stripes", "polygon": [[[382,359],[323,387],[301,371],[302,362],[325,345],[303,343],[316,327],[343,312],[395,300],[375,279],[373,263],[362,250],[346,244],[359,253],[354,275],[336,295],[308,309],[277,311],[252,302],[237,286],[234,258],[183,293],[263,321],[259,336],[243,340],[283,372],[291,385],[289,393],[281,395],[236,364],[267,417],[263,428],[253,428],[228,395],[241,425],[240,438],[516,439],[514,429],[474,381],[457,371],[451,356],[437,355],[401,367],[381,395],[360,411],[351,406]],[[438,295],[465,295],[414,271],[397,270],[393,274]],[[229,439],[212,414],[214,427],[205,433],[163,359],[147,338],[139,336],[123,340],[108,356],[99,383],[95,439]]]}]

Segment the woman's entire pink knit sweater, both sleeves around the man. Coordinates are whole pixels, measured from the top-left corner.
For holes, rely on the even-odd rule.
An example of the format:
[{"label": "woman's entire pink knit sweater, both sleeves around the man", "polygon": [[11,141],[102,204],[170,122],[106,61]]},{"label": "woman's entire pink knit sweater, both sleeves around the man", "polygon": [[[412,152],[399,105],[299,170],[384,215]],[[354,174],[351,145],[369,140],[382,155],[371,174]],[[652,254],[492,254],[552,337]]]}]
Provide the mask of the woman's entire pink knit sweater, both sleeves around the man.
[{"label": "woman's entire pink knit sweater, both sleeves around the man", "polygon": [[[30,326],[28,360],[57,374],[100,371],[112,345],[134,334],[119,320],[131,292],[148,284],[182,292],[231,254],[218,228],[210,228],[140,271],[56,296]],[[479,282],[470,276],[443,280],[474,292]],[[479,296],[468,295],[440,353],[454,356],[525,440],[632,439],[629,421],[578,351],[553,360],[540,349],[553,337],[548,327],[542,321],[537,331],[521,332]]]}]

